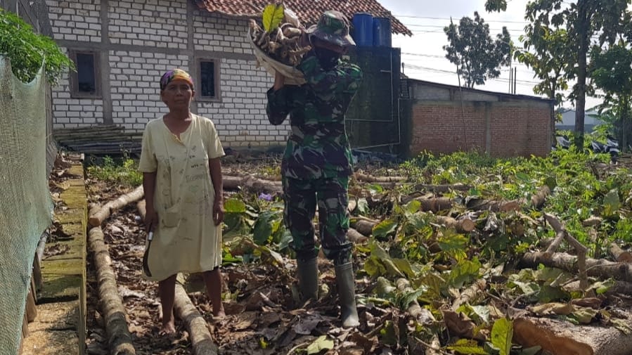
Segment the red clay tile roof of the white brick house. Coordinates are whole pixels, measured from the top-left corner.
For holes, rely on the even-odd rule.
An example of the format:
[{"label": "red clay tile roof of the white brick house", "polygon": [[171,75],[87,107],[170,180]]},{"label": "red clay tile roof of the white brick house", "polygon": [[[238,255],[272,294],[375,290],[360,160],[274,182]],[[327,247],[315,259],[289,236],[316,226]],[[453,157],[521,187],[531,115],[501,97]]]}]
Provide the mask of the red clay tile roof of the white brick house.
[{"label": "red clay tile roof of the white brick house", "polygon": [[[200,8],[211,13],[222,13],[240,17],[259,17],[264,7],[275,1],[271,0],[195,0]],[[337,10],[351,20],[354,13],[370,13],[374,17],[387,17],[391,19],[392,32],[396,34],[408,34],[404,24],[399,22],[384,6],[375,0],[285,0],[285,6],[292,9],[299,16],[299,20],[305,25],[312,25],[318,21],[321,13],[327,10]]]}]

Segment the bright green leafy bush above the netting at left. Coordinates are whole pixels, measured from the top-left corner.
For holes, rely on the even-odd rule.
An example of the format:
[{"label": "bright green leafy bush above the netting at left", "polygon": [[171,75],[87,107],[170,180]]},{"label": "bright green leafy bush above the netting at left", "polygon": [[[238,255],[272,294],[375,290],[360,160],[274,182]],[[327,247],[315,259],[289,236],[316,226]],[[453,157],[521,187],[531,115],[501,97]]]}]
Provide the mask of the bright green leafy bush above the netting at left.
[{"label": "bright green leafy bush above the netting at left", "polygon": [[22,82],[32,81],[42,65],[51,84],[56,84],[65,70],[75,68],[53,39],[36,34],[18,15],[1,8],[0,55],[11,60],[13,74]]}]

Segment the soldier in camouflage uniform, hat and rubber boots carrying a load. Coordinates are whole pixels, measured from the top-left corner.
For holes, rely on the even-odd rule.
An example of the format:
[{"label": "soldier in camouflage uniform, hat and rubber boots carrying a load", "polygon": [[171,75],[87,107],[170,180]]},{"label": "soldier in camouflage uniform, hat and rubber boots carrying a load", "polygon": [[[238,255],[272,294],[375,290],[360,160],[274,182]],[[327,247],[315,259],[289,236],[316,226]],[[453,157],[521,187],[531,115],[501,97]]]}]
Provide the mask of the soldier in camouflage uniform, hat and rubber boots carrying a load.
[{"label": "soldier in camouflage uniform, hat and rubber boots carrying a load", "polygon": [[266,107],[272,124],[290,115],[291,133],[283,155],[281,173],[285,200],[285,225],[292,233],[297,254],[299,289],[304,299],[318,298],[318,248],[314,243],[314,214],[318,205],[321,247],[335,264],[342,325],[359,325],[355,302],[352,243],[349,229],[347,187],[352,174],[352,154],[344,129],[362,72],[340,56],[354,46],[349,22],[342,13],[327,11],[304,34],[312,51],[298,69],[306,84],[285,85],[276,73]]}]

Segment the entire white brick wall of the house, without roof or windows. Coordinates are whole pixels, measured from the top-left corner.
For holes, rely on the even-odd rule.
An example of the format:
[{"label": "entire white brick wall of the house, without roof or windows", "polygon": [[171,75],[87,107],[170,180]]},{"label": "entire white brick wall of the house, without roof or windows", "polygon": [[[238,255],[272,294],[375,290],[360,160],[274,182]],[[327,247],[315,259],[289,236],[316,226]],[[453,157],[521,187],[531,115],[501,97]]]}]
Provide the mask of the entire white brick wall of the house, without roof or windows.
[{"label": "entire white brick wall of the house, without roof or windows", "polygon": [[[163,72],[173,67],[198,71],[191,70],[189,53],[156,53],[165,49],[188,49],[186,1],[109,1],[108,30],[112,46],[127,44],[156,48],[156,51],[145,53],[129,51],[129,46],[124,51],[112,49],[108,52],[109,63],[103,63],[110,65],[109,78],[102,79],[109,79],[111,86],[112,121],[127,131],[142,131],[149,120],[167,112],[160,101],[158,85]],[[55,17],[53,32],[56,39],[83,41],[79,39],[79,33],[86,35],[91,28],[101,28],[99,0],[47,0],[46,3]],[[83,20],[78,22],[80,17]],[[252,54],[245,39],[247,20],[195,10],[193,21],[193,46],[195,51],[202,51],[196,52],[195,58],[209,58],[208,52],[216,53],[211,57],[219,57],[220,70],[219,101],[194,101],[198,114],[215,122],[226,147],[282,145],[288,135],[288,122],[273,126],[266,117],[266,91],[272,86],[271,75],[255,66],[254,56],[252,59],[236,59]],[[78,25],[80,23],[87,23],[88,29]],[[100,36],[99,30],[90,34],[86,41],[100,42]],[[103,100],[70,98],[66,77],[53,88],[53,117],[56,128],[103,123]]]}]

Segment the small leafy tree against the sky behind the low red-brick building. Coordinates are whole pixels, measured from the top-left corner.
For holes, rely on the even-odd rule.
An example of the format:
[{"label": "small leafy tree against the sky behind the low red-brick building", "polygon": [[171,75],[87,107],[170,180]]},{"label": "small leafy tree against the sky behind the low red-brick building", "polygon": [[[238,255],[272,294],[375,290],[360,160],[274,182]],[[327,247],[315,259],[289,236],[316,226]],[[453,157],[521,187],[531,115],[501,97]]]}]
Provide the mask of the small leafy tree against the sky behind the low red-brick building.
[{"label": "small leafy tree against the sky behind the low red-brick building", "polygon": [[507,27],[503,27],[503,33],[497,34],[494,40],[489,34],[489,25],[477,12],[474,20],[463,17],[459,25],[451,23],[444,32],[449,41],[449,45],[444,46],[446,58],[458,66],[458,75],[469,88],[500,76],[500,67],[510,63],[512,44]]}]

